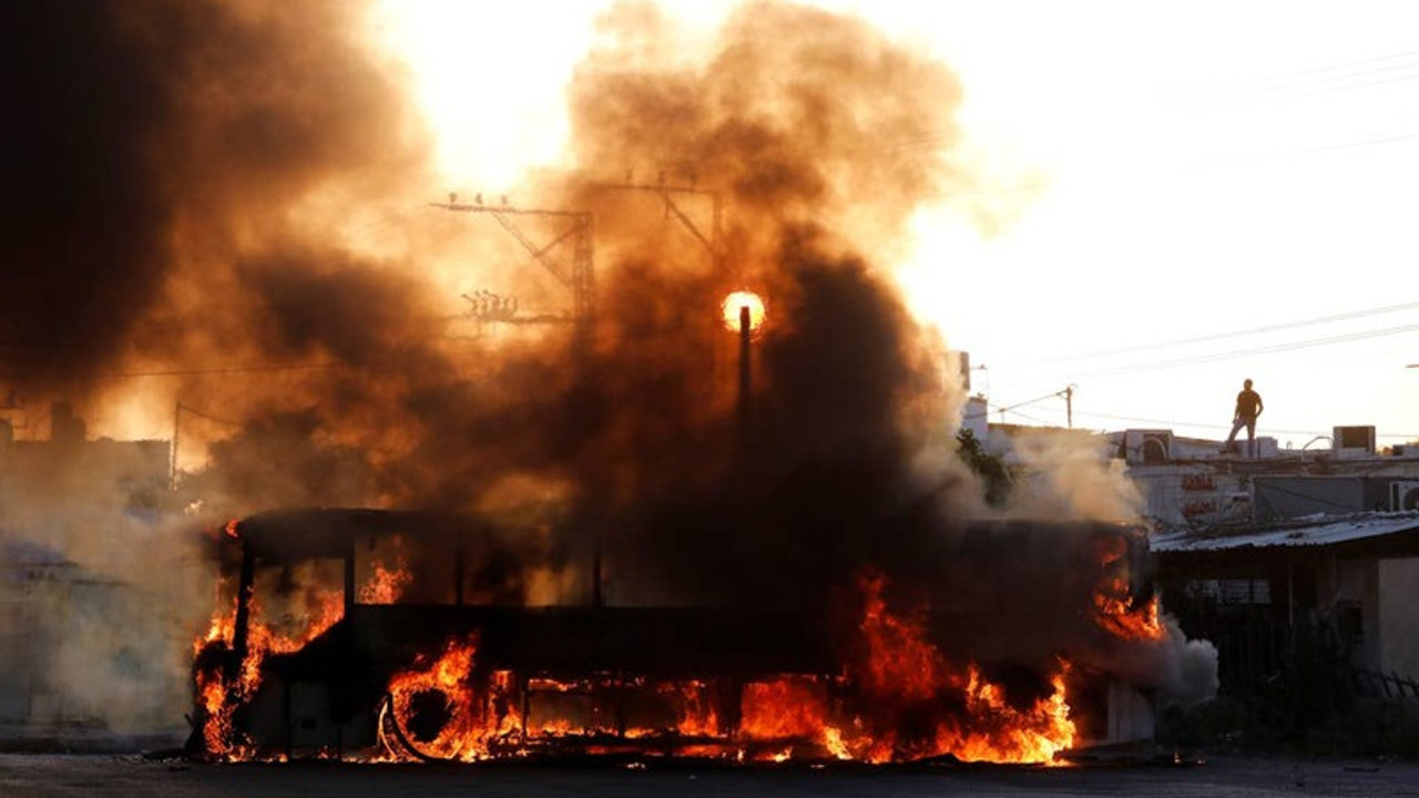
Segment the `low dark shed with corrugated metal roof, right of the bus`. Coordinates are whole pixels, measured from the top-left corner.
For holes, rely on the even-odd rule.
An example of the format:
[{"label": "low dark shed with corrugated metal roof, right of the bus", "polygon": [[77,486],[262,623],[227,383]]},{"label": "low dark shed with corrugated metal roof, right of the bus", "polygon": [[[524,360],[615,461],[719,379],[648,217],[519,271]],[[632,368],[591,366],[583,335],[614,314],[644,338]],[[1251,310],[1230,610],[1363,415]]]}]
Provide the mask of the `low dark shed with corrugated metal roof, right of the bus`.
[{"label": "low dark shed with corrugated metal roof, right of the bus", "polygon": [[1164,602],[1257,686],[1298,640],[1357,673],[1419,676],[1419,513],[1308,515],[1155,534]]}]

